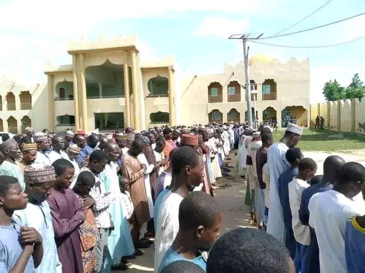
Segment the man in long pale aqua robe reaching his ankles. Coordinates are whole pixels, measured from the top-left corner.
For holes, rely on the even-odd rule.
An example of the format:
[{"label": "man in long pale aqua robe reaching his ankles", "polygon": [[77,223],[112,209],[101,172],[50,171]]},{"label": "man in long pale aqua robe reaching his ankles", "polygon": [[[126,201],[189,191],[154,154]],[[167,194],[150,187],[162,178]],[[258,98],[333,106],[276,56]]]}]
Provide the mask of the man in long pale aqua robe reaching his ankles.
[{"label": "man in long pale aqua robe reaching his ankles", "polygon": [[124,202],[117,174],[119,169],[117,160],[120,149],[117,144],[108,142],[104,151],[108,164],[105,165],[105,170],[100,174],[100,178],[105,185],[105,192],[115,197],[114,201],[109,204],[109,214],[114,224],[114,230],[108,236],[107,247],[109,253],[105,260],[104,270],[109,271],[111,268],[127,269],[126,265],[118,266],[123,256],[130,256],[134,253],[133,241],[125,209],[123,208]]}]

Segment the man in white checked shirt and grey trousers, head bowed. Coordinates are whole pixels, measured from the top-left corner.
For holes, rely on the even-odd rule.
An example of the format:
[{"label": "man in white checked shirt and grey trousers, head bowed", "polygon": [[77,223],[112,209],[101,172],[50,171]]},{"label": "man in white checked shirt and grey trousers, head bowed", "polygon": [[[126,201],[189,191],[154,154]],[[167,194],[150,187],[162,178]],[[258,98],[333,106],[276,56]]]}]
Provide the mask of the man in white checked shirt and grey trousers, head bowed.
[{"label": "man in white checked shirt and grey trousers, head bowed", "polygon": [[98,228],[96,266],[94,272],[103,272],[103,263],[106,259],[107,238],[109,229],[112,228],[109,205],[114,201],[114,196],[111,193],[106,193],[104,181],[101,179],[101,173],[105,169],[106,164],[106,154],[101,150],[96,150],[91,153],[88,165],[81,169],[81,171],[91,172],[95,178],[95,185],[89,193],[95,202],[92,210]]}]

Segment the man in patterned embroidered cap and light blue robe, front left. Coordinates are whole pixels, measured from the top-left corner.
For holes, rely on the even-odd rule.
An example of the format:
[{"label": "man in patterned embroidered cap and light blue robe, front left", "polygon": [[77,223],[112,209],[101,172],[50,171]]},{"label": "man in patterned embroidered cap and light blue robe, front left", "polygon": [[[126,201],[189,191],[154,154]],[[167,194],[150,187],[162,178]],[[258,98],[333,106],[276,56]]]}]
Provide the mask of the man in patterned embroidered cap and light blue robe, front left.
[{"label": "man in patterned embroidered cap and light blue robe, front left", "polygon": [[39,273],[62,271],[55,243],[51,211],[46,202],[55,179],[55,171],[52,166],[41,164],[26,166],[24,182],[29,203],[25,209],[15,211],[13,215],[25,226],[34,228],[42,236],[43,258],[41,264],[35,269],[35,272]]}]

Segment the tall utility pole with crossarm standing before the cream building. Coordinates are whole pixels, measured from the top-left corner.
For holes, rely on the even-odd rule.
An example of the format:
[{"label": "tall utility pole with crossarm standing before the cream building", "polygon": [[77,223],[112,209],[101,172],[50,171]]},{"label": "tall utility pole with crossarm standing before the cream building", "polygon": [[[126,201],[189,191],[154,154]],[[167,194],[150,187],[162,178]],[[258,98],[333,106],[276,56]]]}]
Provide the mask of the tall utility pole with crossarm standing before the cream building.
[{"label": "tall utility pole with crossarm standing before the cream building", "polygon": [[[259,39],[264,33],[261,33],[259,36],[250,39]],[[245,89],[246,89],[246,103],[247,103],[247,121],[248,126],[252,126],[252,107],[251,107],[251,86],[249,82],[248,76],[248,49],[247,49],[247,39],[249,34],[233,34],[229,37],[229,39],[240,39],[243,44],[243,61],[244,61],[244,69],[245,69]],[[256,119],[255,119],[256,123]]]}]

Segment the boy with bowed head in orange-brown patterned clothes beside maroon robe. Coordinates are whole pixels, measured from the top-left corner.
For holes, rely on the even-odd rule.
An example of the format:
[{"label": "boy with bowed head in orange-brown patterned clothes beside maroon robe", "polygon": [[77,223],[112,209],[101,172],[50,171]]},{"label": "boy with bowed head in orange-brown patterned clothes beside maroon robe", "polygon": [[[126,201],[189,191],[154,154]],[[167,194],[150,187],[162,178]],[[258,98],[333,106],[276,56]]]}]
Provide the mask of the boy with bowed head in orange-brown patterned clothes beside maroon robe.
[{"label": "boy with bowed head in orange-brown patterned clothes beside maroon robe", "polygon": [[[98,239],[98,229],[91,207],[94,202],[90,201],[90,190],[95,185],[95,177],[89,171],[81,172],[72,189],[79,200],[86,206],[85,221],[79,225],[79,235],[81,241],[81,255],[84,272],[93,272],[96,265],[96,242]],[[89,201],[88,201],[89,200]],[[91,200],[93,201],[93,200]]]}]

